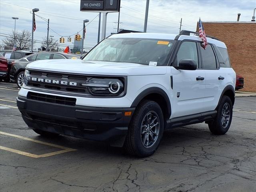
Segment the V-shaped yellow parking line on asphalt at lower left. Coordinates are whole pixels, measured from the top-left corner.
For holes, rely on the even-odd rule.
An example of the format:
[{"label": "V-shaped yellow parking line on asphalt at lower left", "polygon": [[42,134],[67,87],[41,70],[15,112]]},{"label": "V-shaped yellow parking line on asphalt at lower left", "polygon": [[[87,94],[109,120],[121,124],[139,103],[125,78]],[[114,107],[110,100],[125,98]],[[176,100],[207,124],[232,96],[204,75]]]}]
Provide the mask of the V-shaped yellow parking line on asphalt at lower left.
[{"label": "V-shaped yellow parking line on asphalt at lower left", "polygon": [[72,148],[68,148],[68,147],[64,147],[64,146],[60,146],[60,145],[55,145],[55,144],[51,144],[51,143],[47,143],[47,142],[43,142],[43,141],[38,141],[38,140],[35,140],[35,139],[32,139],[32,138],[27,138],[27,137],[23,137],[23,136],[19,136],[19,135],[14,135],[14,134],[2,132],[2,131],[0,131],[0,134],[7,135],[7,136],[12,136],[12,137],[20,138],[20,139],[23,139],[23,140],[28,140],[28,141],[32,141],[32,142],[36,142],[36,143],[40,143],[40,144],[44,144],[44,145],[48,145],[48,146],[63,149],[63,150],[56,151],[56,152],[36,155],[36,154],[32,154],[32,153],[12,149],[12,148],[0,146],[0,149],[2,149],[2,150],[6,150],[6,151],[9,151],[9,152],[14,152],[14,153],[24,155],[24,156],[28,156],[28,157],[32,157],[32,158],[49,157],[49,156],[53,156],[53,155],[57,155],[57,154],[70,152],[70,151],[76,151],[76,149],[72,149]]}]

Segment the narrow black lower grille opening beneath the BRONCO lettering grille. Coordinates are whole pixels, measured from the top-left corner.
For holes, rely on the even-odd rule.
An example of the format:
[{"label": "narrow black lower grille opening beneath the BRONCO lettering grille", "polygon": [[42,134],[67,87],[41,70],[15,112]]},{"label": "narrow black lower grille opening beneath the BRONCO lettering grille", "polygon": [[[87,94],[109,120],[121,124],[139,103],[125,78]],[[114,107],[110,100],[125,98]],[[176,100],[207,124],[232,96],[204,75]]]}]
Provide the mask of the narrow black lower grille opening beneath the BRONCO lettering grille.
[{"label": "narrow black lower grille opening beneath the BRONCO lettering grille", "polygon": [[48,103],[71,105],[71,106],[76,105],[76,98],[70,98],[70,97],[62,97],[62,96],[28,92],[27,98],[31,100],[43,101]]}]

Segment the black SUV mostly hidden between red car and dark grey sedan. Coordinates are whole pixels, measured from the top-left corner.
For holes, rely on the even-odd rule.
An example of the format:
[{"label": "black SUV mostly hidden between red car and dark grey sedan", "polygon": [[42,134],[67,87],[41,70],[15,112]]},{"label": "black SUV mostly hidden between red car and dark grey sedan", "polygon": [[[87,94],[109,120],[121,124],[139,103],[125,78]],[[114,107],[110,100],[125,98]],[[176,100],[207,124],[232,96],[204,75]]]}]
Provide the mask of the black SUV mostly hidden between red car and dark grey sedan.
[{"label": "black SUV mostly hidden between red car and dark grey sedan", "polygon": [[7,59],[7,63],[8,63],[8,73],[6,78],[4,78],[4,80],[6,80],[7,82],[10,81],[9,72],[11,69],[12,62],[20,58],[23,58],[25,56],[28,56],[30,54],[33,54],[33,52],[29,52],[29,51],[13,51],[13,50],[2,50],[0,51],[0,53]]}]

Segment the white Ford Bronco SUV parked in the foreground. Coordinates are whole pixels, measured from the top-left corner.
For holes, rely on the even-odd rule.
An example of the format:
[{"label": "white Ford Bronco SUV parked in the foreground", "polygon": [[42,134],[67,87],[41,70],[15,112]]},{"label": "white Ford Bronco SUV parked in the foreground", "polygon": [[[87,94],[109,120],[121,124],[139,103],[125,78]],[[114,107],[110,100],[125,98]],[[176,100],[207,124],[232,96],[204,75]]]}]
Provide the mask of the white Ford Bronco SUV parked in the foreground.
[{"label": "white Ford Bronco SUV parked in the foreground", "polygon": [[64,134],[153,154],[166,129],[206,122],[214,134],[231,124],[236,74],[226,45],[208,37],[122,33],[83,60],[26,67],[17,106],[44,136]]}]

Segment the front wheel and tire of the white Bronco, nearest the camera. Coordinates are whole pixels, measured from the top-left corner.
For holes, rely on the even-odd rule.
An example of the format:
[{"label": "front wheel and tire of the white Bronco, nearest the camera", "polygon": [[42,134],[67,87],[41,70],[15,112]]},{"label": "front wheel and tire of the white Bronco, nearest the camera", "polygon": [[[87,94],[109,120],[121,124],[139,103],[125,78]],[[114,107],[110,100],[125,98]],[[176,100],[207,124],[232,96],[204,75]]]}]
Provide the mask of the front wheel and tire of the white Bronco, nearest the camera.
[{"label": "front wheel and tire of the white Bronco, nearest the camera", "polygon": [[164,117],[160,106],[154,101],[144,100],[129,124],[124,149],[132,156],[148,157],[158,148],[163,132]]}]

